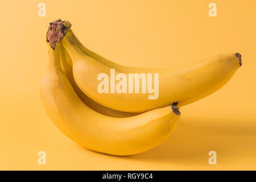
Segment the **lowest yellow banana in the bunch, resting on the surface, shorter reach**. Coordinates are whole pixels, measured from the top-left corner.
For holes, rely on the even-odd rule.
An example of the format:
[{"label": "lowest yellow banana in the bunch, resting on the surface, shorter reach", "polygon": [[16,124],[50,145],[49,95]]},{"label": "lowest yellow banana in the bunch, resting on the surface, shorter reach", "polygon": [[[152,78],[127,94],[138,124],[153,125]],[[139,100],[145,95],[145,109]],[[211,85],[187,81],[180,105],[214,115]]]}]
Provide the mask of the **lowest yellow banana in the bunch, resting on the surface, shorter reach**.
[{"label": "lowest yellow banana in the bunch, resting on the surface, shorter reach", "polygon": [[127,118],[97,113],[77,96],[60,65],[60,43],[48,44],[49,66],[40,95],[49,118],[69,138],[90,150],[132,155],[158,146],[171,134],[179,109],[175,105]]}]

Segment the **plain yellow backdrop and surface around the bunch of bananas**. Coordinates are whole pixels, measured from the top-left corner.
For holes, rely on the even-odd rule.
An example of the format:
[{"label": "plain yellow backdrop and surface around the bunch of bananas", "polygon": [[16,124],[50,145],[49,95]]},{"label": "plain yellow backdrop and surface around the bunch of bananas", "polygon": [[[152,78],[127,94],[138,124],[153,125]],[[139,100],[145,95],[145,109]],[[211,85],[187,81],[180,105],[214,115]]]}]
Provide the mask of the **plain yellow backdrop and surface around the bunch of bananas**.
[{"label": "plain yellow backdrop and surface around the bunch of bananas", "polygon": [[[46,17],[38,3],[46,3]],[[208,5],[217,5],[210,18]],[[0,169],[256,169],[256,1],[1,1]],[[117,63],[172,67],[240,52],[223,88],[182,107],[160,146],[133,156],[99,154],[65,137],[39,96],[47,69],[46,31],[69,20],[81,42]],[[47,164],[38,164],[38,151]],[[217,165],[208,152],[217,152]]]}]

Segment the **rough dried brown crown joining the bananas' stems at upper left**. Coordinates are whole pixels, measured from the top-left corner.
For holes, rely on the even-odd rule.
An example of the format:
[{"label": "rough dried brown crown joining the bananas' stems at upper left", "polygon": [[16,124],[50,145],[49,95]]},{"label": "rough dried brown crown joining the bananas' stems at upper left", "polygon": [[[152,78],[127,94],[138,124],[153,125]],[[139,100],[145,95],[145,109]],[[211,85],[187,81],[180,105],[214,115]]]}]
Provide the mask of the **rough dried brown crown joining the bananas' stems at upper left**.
[{"label": "rough dried brown crown joining the bananas' stems at upper left", "polygon": [[61,41],[61,39],[65,36],[65,32],[70,30],[70,28],[71,23],[68,21],[62,21],[61,19],[49,23],[46,38],[53,50],[55,49],[56,43]]}]

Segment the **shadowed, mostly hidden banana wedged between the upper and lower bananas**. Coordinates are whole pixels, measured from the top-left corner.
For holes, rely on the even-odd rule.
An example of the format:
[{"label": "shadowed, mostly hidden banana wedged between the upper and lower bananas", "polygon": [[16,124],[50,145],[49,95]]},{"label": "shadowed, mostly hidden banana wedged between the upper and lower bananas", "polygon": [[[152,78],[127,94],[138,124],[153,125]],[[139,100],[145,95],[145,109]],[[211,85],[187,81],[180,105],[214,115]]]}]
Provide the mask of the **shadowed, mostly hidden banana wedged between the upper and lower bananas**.
[{"label": "shadowed, mostly hidden banana wedged between the upper and lower bananas", "polygon": [[73,86],[73,89],[75,90],[77,96],[81,99],[84,104],[86,104],[90,109],[97,111],[98,113],[108,115],[110,117],[118,117],[118,118],[125,118],[125,117],[131,117],[133,115],[137,115],[137,113],[126,113],[114,109],[110,109],[109,107],[102,106],[98,104],[97,102],[91,100],[88,96],[86,96],[82,90],[77,86],[74,77],[73,77],[73,71],[72,71],[72,60],[71,57],[68,55],[68,52],[65,51],[63,46],[60,46],[60,64],[63,72],[68,77],[69,82]]}]

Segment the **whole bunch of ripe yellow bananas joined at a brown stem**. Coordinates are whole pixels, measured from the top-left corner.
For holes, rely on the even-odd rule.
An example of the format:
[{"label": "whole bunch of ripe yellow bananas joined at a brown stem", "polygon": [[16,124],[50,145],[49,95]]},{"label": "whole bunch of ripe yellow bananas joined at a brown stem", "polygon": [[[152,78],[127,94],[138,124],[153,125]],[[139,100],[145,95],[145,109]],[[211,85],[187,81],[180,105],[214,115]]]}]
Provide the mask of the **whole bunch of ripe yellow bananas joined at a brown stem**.
[{"label": "whole bunch of ripe yellow bananas joined at a brown stem", "polygon": [[[86,49],[71,23],[56,20],[47,32],[49,67],[43,79],[43,105],[69,138],[94,151],[131,155],[162,143],[180,118],[179,107],[220,89],[241,66],[241,55],[216,55],[191,65],[151,69],[126,67]],[[158,73],[159,97],[97,92],[97,76],[110,69]]]}]

